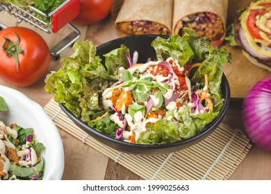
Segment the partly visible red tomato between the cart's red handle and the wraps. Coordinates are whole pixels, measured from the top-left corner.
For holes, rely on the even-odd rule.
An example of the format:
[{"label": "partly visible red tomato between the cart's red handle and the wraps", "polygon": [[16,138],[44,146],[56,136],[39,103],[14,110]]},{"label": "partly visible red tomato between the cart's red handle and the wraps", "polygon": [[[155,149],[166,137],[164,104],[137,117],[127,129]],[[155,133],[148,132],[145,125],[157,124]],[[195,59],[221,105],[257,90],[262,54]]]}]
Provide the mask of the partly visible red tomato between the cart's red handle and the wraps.
[{"label": "partly visible red tomato between the cart's red handle and the wraps", "polygon": [[79,16],[74,19],[77,24],[95,24],[103,20],[110,12],[113,0],[80,0]]}]

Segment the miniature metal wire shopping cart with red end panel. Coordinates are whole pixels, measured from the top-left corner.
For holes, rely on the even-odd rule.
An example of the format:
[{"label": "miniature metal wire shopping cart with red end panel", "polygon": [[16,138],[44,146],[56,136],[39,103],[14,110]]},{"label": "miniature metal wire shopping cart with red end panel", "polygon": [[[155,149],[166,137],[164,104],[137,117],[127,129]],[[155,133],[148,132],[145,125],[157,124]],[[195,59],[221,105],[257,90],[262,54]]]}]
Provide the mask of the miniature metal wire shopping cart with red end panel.
[{"label": "miniature metal wire shopping cart with red end panel", "polygon": [[[46,33],[57,33],[63,26],[69,26],[72,33],[50,48],[53,60],[58,60],[60,53],[80,37],[80,31],[69,23],[79,15],[80,0],[67,0],[48,14],[41,12],[33,6],[28,6],[27,9],[24,9],[19,8],[13,3],[0,3],[1,10],[19,18],[17,25],[22,21],[26,21]],[[0,24],[0,28],[6,27],[4,24]]]}]

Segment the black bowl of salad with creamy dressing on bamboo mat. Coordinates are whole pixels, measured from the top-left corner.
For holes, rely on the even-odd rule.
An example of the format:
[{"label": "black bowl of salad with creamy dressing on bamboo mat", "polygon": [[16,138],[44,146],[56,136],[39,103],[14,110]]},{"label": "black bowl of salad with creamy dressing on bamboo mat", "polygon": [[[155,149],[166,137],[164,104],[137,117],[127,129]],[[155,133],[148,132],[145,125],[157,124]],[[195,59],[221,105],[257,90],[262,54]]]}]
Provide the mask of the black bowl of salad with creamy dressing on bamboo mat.
[{"label": "black bowl of salad with creamy dressing on bamboo mat", "polygon": [[133,35],[95,47],[85,40],[51,72],[45,89],[76,125],[139,155],[181,150],[210,134],[229,106],[225,48],[193,30]]}]

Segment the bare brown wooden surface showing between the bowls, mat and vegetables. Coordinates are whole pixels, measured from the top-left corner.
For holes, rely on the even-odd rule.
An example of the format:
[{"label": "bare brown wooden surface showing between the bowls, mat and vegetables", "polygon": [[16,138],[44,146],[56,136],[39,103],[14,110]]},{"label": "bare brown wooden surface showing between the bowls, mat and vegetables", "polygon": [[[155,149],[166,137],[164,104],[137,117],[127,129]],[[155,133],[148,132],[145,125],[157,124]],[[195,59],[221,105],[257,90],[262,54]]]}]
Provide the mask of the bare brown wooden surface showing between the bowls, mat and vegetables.
[{"label": "bare brown wooden surface showing between the bowls, mat and vegetables", "polygon": [[[251,1],[247,0],[229,0],[227,24],[233,20],[233,14],[236,10],[245,8],[250,2]],[[17,21],[15,17],[7,15],[3,11],[0,12],[0,18],[0,22],[6,26],[15,26]],[[19,24],[19,26],[25,26],[40,33],[50,48],[70,31],[69,28],[65,26],[56,34],[47,34],[24,22]],[[76,27],[81,31],[80,39],[90,39],[96,46],[121,36],[113,26],[111,15],[108,15],[106,19],[97,24]],[[233,128],[238,127],[244,130],[240,112],[243,98],[247,94],[247,91],[249,91],[258,80],[271,76],[271,73],[255,67],[242,55],[240,50],[229,48],[227,43],[224,43],[224,46],[226,46],[228,51],[233,55],[232,64],[224,67],[224,73],[229,80],[233,100],[231,100],[229,111],[223,122]],[[65,58],[72,55],[72,53],[72,48],[66,48],[65,51],[60,53],[60,58]],[[51,65],[47,73],[57,71],[59,68],[59,60],[51,60]],[[44,91],[44,78],[46,74],[38,82],[29,87],[16,87],[2,80],[0,80],[0,85],[17,89],[44,107],[44,105],[53,98],[51,94],[47,94],[47,92]],[[67,132],[60,130],[60,136],[62,137],[65,151],[63,179],[142,179],[120,164],[116,164],[115,161],[108,159],[108,157],[102,155],[99,151],[83,144]],[[229,179],[271,179],[271,152],[265,151],[252,144],[251,150],[249,150],[245,159]]]}]

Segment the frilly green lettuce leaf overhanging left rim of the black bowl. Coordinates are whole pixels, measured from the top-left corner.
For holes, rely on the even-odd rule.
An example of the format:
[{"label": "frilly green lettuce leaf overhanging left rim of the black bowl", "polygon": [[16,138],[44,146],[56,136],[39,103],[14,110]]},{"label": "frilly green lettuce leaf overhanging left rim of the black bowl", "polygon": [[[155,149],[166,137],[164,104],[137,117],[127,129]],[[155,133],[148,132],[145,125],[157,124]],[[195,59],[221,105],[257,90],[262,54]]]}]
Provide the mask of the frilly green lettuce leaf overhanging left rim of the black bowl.
[{"label": "frilly green lettuce leaf overhanging left rim of the black bowl", "polygon": [[64,103],[74,116],[87,122],[95,110],[101,110],[97,99],[112,78],[96,56],[92,42],[79,41],[73,48],[72,56],[60,60],[62,67],[47,75],[44,89],[55,94],[57,103]]}]

